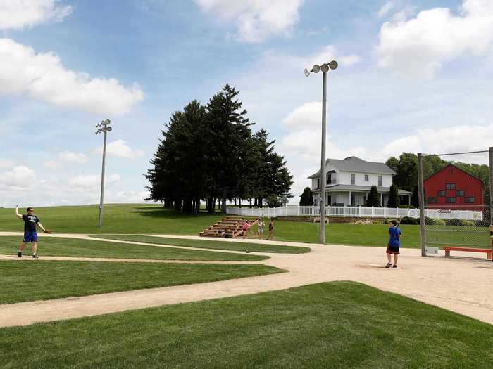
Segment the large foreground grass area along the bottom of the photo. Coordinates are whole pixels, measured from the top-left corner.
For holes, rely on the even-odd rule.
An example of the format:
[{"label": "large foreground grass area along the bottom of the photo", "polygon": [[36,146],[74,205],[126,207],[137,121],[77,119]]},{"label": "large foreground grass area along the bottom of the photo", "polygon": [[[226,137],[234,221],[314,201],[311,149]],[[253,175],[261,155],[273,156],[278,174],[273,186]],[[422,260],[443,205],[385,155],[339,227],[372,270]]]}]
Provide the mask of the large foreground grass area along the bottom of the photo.
[{"label": "large foreground grass area along the bottom of the photo", "polygon": [[492,325],[338,282],[3,328],[0,363],[4,368],[478,369],[491,368],[492,345]]}]

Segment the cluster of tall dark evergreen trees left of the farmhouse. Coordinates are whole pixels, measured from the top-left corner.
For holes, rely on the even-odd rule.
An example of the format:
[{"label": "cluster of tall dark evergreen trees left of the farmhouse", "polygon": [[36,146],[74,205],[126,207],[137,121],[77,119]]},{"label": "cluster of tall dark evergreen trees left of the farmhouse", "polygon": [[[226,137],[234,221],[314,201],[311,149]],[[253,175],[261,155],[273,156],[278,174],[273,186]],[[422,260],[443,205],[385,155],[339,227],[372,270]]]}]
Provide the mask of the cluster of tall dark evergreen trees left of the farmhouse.
[{"label": "cluster of tall dark evergreen trees left of the farmhouse", "polygon": [[146,174],[147,200],[187,213],[199,212],[202,200],[208,212],[217,202],[223,213],[233,200],[240,207],[242,199],[250,207],[287,203],[293,182],[284,157],[265,129],[252,132],[238,95],[226,84],[207,105],[194,100],[173,112]]}]

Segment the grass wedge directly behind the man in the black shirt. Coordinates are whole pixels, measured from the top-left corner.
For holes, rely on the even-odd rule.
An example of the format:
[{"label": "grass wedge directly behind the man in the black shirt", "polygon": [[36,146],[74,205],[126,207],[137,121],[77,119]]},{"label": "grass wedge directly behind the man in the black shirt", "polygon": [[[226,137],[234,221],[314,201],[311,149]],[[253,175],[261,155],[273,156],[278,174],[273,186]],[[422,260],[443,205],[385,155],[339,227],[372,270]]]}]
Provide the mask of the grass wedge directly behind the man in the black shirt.
[{"label": "grass wedge directly behind the man in the black shirt", "polygon": [[[0,254],[17,254],[20,246],[18,237],[0,237]],[[25,256],[30,256],[31,246],[25,248]],[[203,250],[186,250],[177,247],[156,247],[131,245],[98,240],[79,240],[76,238],[39,238],[39,257],[108,257],[120,259],[160,259],[160,260],[202,260],[202,261],[261,261],[268,259],[261,255],[235,254]]]}]

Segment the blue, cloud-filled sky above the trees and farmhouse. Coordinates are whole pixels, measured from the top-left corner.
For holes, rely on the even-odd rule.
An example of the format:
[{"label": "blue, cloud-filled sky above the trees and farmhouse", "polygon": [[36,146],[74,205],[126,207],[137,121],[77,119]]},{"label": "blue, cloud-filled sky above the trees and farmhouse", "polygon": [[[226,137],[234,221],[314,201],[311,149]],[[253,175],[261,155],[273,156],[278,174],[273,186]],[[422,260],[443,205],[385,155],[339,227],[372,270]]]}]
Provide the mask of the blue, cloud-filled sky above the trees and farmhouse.
[{"label": "blue, cloud-filled sky above the trees and farmhouse", "polygon": [[[493,146],[490,0],[0,0],[0,207],[142,202],[170,115],[227,83],[294,176]],[[486,155],[475,158],[482,162]],[[473,160],[473,161],[474,161]]]}]

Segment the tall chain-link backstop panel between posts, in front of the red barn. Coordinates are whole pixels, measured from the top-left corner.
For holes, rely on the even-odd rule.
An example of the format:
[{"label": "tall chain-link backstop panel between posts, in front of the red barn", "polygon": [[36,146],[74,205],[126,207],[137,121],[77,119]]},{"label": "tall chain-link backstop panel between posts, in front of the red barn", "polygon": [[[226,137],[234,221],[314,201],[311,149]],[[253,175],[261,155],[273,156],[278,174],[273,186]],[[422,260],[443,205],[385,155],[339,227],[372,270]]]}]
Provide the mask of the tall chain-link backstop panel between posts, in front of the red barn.
[{"label": "tall chain-link backstop panel between posts, in front of the red barn", "polygon": [[492,259],[493,148],[418,154],[421,254]]}]

